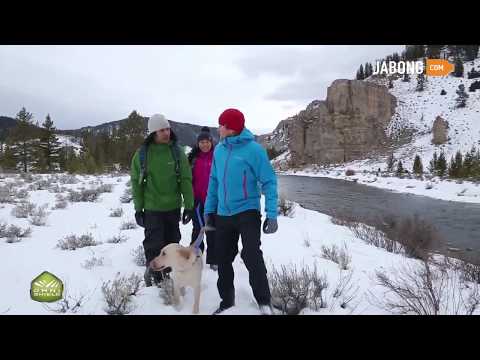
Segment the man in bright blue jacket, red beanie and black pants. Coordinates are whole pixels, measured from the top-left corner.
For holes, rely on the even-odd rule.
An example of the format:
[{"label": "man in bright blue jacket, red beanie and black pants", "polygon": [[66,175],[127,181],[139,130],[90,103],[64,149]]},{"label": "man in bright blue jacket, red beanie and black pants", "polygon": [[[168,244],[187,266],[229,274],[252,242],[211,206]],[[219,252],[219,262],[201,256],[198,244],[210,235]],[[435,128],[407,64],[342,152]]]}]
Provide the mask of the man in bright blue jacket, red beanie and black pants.
[{"label": "man in bright blue jacket, red beanie and black pants", "polygon": [[235,305],[232,263],[242,237],[241,257],[249,272],[253,295],[262,314],[272,314],[267,269],[260,250],[260,197],[265,195],[266,219],[263,232],[277,231],[277,177],[265,149],[245,128],[245,118],[236,109],[219,118],[221,142],[215,148],[210,172],[205,223],[215,227],[218,258],[217,288],[222,301],[219,314]]}]

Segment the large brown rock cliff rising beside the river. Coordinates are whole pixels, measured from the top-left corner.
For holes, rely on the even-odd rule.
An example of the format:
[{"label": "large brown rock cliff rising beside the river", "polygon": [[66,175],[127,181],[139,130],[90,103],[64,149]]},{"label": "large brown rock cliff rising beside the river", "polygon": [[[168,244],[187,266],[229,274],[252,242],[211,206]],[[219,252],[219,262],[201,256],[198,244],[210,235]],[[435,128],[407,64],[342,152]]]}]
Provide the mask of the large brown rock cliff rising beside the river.
[{"label": "large brown rock cliff rising beside the river", "polygon": [[396,98],[385,86],[334,81],[325,101],[313,101],[284,120],[282,136],[288,140],[291,166],[351,161],[382,148],[395,107]]}]

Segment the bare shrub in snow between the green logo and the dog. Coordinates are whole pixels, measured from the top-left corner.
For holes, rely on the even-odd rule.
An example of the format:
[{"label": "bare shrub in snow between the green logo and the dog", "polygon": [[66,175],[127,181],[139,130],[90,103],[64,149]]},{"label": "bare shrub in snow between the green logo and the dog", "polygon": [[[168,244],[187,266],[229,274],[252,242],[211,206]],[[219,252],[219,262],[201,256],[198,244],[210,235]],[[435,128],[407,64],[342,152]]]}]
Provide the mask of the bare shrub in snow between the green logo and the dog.
[{"label": "bare shrub in snow between the green logo and the dog", "polygon": [[132,274],[128,278],[117,274],[113,282],[104,282],[102,293],[107,303],[105,312],[109,315],[129,314],[134,308],[132,296],[137,295],[141,282],[142,278],[137,274]]}]

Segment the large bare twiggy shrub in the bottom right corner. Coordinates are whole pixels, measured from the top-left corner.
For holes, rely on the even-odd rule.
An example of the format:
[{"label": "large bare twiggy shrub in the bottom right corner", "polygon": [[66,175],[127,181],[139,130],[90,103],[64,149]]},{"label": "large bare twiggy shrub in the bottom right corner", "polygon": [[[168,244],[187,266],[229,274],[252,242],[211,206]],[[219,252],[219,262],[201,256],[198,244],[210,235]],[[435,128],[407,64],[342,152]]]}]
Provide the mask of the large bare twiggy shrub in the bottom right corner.
[{"label": "large bare twiggy shrub in the bottom right corner", "polygon": [[392,313],[472,315],[480,304],[478,283],[467,283],[458,269],[444,264],[421,261],[390,276],[377,271],[376,278],[387,290],[377,303]]}]

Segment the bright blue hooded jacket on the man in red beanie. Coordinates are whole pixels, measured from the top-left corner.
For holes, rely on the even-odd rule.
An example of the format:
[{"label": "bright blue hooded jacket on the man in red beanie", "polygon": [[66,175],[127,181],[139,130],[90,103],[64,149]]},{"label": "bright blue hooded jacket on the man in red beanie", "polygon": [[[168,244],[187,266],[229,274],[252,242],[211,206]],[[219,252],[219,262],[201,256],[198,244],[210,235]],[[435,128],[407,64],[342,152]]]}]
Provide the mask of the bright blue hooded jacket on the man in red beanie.
[{"label": "bright blue hooded jacket on the man in red beanie", "polygon": [[223,139],[213,153],[205,214],[231,216],[260,210],[265,195],[267,218],[277,218],[277,176],[265,149],[248,129]]}]

